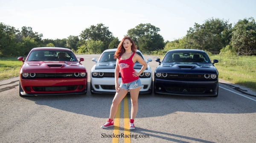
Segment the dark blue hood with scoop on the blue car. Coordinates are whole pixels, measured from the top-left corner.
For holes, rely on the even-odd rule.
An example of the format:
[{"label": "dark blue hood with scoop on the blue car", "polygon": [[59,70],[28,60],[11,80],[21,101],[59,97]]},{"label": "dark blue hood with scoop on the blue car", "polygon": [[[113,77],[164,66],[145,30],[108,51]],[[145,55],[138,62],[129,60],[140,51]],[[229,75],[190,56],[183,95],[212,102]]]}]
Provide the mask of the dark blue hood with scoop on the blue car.
[{"label": "dark blue hood with scoop on the blue car", "polygon": [[216,68],[208,63],[161,63],[156,70],[159,73],[217,73]]}]

